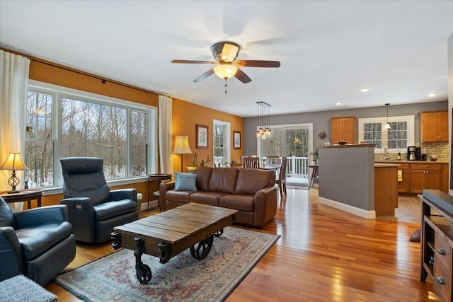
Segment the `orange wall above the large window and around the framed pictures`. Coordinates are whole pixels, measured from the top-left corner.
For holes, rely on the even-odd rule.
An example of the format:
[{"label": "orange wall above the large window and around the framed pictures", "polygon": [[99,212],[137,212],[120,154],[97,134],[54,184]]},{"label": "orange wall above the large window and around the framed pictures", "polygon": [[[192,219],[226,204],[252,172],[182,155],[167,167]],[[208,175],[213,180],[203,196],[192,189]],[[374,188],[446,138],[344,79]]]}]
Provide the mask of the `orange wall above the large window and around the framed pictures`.
[{"label": "orange wall above the large window and around the framed pictures", "polygon": [[[6,52],[13,52],[1,48]],[[87,91],[89,93],[97,93],[99,95],[107,95],[112,98],[120,98],[122,100],[130,100],[135,103],[141,103],[146,105],[152,105],[159,108],[159,93],[154,91],[147,91],[146,89],[137,88],[130,86],[125,83],[110,80],[105,78],[103,83],[102,76],[89,74],[84,71],[72,69],[67,66],[47,62],[42,59],[30,57],[26,54],[19,52],[13,52],[14,54],[22,55],[32,59],[30,62],[30,74],[29,78],[35,81],[42,81],[45,83],[51,83],[58,86],[64,86],[68,88],[77,89],[80,91]],[[98,79],[96,79],[98,78]],[[188,79],[188,81],[191,81]],[[223,96],[223,95],[219,95]],[[184,100],[178,100],[173,98],[173,137],[176,135],[188,135],[190,149],[195,152],[195,129],[196,124],[205,124],[209,127],[209,141],[208,149],[200,149],[198,154],[199,162],[207,157],[209,153],[211,161],[209,163],[212,166],[212,120],[222,120],[224,122],[231,123],[231,137],[234,131],[240,131],[242,133],[243,119],[236,115],[230,115],[225,112],[218,110],[212,110],[205,108],[194,103],[189,103]],[[173,139],[174,144],[174,139]],[[241,144],[243,146],[243,144]],[[239,161],[242,155],[241,149],[233,149],[231,146],[231,160]],[[184,155],[183,164],[184,167],[190,165],[193,159],[193,155]],[[180,156],[174,154],[172,156],[173,168],[176,171],[180,170]],[[143,194],[143,202],[148,199],[147,194],[147,182],[137,182],[131,185],[116,186],[112,189],[119,189],[122,187],[136,187],[138,192]],[[158,184],[151,182],[150,192],[158,190]],[[59,201],[63,198],[62,194],[46,195],[42,197],[42,205],[59,204]]]}]

